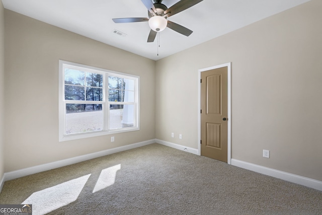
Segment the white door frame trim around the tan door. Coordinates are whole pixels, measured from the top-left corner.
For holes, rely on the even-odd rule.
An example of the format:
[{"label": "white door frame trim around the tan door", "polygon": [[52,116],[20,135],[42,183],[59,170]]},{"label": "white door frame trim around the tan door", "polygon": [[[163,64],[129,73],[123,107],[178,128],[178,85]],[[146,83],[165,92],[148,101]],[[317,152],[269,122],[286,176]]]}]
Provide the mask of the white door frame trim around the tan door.
[{"label": "white door frame trim around the tan door", "polygon": [[211,66],[211,67],[207,67],[207,68],[202,68],[202,69],[198,69],[198,155],[201,155],[201,146],[200,146],[200,140],[201,140],[201,114],[200,114],[200,110],[201,110],[201,97],[200,97],[200,87],[201,87],[201,83],[200,83],[200,79],[201,79],[201,73],[203,71],[207,71],[207,70],[211,70],[211,69],[215,69],[215,68],[221,68],[221,67],[226,67],[227,66],[227,102],[228,102],[228,132],[227,132],[227,164],[230,164],[231,162],[231,62],[228,63],[223,63],[220,65],[215,65],[215,66]]}]

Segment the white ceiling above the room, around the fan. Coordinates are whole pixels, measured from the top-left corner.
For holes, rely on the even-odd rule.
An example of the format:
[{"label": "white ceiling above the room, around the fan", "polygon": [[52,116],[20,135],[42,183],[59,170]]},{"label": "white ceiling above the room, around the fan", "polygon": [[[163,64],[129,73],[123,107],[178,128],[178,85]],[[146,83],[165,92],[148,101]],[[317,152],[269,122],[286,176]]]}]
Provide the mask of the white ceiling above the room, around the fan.
[{"label": "white ceiling above the room, around the fan", "polygon": [[[168,18],[189,28],[186,37],[166,28],[147,43],[147,22],[119,23],[112,18],[148,17],[141,0],[2,0],[6,9],[94,40],[158,60],[310,0],[204,0]],[[179,0],[164,0],[170,8]],[[114,29],[126,34],[113,33]]]}]

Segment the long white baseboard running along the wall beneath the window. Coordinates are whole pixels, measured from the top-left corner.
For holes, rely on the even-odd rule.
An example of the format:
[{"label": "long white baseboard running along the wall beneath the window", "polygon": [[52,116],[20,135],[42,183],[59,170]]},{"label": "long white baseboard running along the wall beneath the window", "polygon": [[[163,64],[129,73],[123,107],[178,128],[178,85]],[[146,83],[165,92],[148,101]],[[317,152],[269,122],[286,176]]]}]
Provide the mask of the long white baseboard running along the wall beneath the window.
[{"label": "long white baseboard running along the wall beneath the window", "polygon": [[4,175],[3,181],[8,181],[8,180],[20,178],[20,177],[23,177],[23,176],[27,176],[27,175],[31,175],[31,174],[35,174],[35,173],[39,173],[39,172],[43,172],[43,171],[47,171],[47,170],[51,170],[51,169],[71,165],[71,164],[75,164],[75,163],[79,163],[79,162],[83,162],[83,161],[87,161],[87,160],[91,160],[91,159],[94,159],[94,158],[99,158],[99,157],[102,157],[102,156],[106,156],[106,155],[110,155],[110,154],[130,150],[130,149],[135,149],[135,148],[138,148],[138,147],[143,147],[143,146],[146,146],[146,145],[153,144],[154,142],[155,142],[155,139],[151,139],[151,140],[147,140],[147,141],[143,141],[143,142],[137,142],[136,144],[126,145],[126,146],[123,146],[123,147],[117,147],[117,148],[114,148],[114,149],[109,149],[109,150],[104,150],[104,151],[101,151],[101,152],[91,153],[91,154],[88,154],[88,155],[77,156],[77,157],[74,157],[74,158],[69,158],[69,159],[56,161],[56,162],[52,162],[52,163],[48,163],[48,164],[42,164],[42,165],[38,165],[38,166],[34,166],[34,167],[21,169],[21,170],[7,172]]}]

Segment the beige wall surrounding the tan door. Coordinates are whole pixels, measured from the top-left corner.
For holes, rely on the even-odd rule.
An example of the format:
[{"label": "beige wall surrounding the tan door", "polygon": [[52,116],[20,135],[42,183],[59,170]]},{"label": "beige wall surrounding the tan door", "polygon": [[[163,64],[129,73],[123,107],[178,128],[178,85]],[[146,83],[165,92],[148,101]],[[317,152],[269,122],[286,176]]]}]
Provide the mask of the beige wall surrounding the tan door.
[{"label": "beige wall surrounding the tan door", "polygon": [[198,148],[198,69],[231,62],[232,158],[322,181],[321,11],[312,0],[158,60],[156,138]]}]

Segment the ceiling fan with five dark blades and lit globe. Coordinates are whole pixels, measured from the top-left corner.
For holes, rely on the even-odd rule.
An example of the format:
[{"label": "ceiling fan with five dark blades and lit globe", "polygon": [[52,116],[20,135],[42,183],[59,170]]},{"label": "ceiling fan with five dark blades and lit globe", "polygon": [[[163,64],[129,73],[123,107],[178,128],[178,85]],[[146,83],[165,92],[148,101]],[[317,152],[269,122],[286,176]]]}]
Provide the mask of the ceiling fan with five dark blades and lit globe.
[{"label": "ceiling fan with five dark blades and lit globe", "polygon": [[147,8],[149,18],[117,18],[112,20],[115,23],[148,22],[151,30],[147,38],[147,42],[153,42],[156,33],[163,31],[166,27],[185,36],[189,36],[192,33],[190,29],[171,22],[167,20],[167,18],[192,7],[203,0],[181,0],[170,8],[167,8],[167,6],[162,4],[162,0],[153,0],[154,3],[152,3],[151,0],[141,1]]}]

